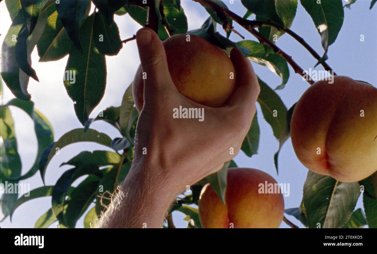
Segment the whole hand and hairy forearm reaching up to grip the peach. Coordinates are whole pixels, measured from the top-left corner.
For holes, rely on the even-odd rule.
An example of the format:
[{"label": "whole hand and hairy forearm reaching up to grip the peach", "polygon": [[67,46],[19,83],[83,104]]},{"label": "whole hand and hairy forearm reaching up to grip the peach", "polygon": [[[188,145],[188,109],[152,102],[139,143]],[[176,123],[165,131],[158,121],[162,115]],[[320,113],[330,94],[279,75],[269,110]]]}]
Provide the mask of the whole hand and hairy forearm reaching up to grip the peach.
[{"label": "whole hand and hairy forearm reaching up to grip the peach", "polygon": [[[230,55],[237,88],[226,105],[210,108],[178,92],[155,32],[140,29],[136,41],[147,79],[134,158],[98,227],[161,227],[176,195],[238,154],[256,111],[259,84],[250,61],[238,50]],[[179,106],[204,108],[204,121],[173,118],[173,108]]]}]

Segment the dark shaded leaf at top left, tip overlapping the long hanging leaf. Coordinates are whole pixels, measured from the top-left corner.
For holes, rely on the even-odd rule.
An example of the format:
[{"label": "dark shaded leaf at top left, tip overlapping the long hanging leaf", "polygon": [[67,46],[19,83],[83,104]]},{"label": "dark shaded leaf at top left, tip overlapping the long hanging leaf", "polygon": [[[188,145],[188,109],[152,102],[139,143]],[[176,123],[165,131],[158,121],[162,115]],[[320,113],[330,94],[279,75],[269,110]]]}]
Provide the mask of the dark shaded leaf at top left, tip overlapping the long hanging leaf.
[{"label": "dark shaded leaf at top left, tip overlapping the long hanging leaf", "polygon": [[[90,4],[89,0],[70,0],[70,1],[61,1],[61,3],[56,3],[55,8],[58,11],[59,18],[61,23],[64,26],[69,38],[75,47],[83,53],[83,47],[81,46],[79,39],[79,27],[81,19],[85,16],[86,9]],[[83,27],[82,30],[87,29]],[[91,30],[91,29],[90,29]],[[81,40],[87,40],[81,39]]]}]

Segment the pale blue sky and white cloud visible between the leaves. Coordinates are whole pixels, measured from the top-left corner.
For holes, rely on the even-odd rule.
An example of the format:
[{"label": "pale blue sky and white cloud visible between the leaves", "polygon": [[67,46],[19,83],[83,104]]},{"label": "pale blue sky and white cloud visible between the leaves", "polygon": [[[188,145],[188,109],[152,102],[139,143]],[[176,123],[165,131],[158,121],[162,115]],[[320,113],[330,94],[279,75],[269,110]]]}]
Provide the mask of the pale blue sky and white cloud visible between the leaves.
[{"label": "pale blue sky and white cloud visible between the leaves", "polygon": [[[234,0],[234,4],[227,3],[229,9],[236,14],[243,16],[246,9],[242,6],[240,0]],[[343,4],[346,2],[343,1]],[[208,13],[198,3],[190,0],[181,0],[182,8],[187,16],[189,30],[199,28]],[[329,47],[328,64],[336,71],[338,75],[349,76],[356,80],[362,80],[376,86],[377,80],[377,6],[369,10],[370,0],[358,0],[350,9],[345,9],[345,18],[342,29],[340,30],[337,40]],[[92,5],[93,6],[93,5]],[[251,16],[253,19],[255,16]],[[136,23],[128,14],[123,16],[115,15],[115,21],[120,30],[122,40],[130,38],[141,26]],[[8,10],[5,1],[0,3],[0,43],[3,42],[4,35],[11,25]],[[246,40],[256,39],[239,27],[233,24],[235,29],[240,32]],[[218,26],[221,29],[221,26]],[[308,13],[303,9],[300,2],[298,3],[297,14],[291,29],[303,37],[318,53],[323,54],[320,36]],[[224,34],[223,31],[221,31]],[[360,41],[360,35],[364,35],[365,41]],[[232,33],[231,40],[242,40],[238,35]],[[277,40],[277,46],[283,49],[288,55],[304,69],[314,67],[316,59],[307,52],[297,41],[285,34]],[[80,122],[75,116],[72,100],[68,97],[63,85],[62,77],[66,66],[68,56],[54,62],[38,62],[39,57],[37,50],[32,53],[32,67],[37,72],[40,82],[29,79],[28,91],[32,95],[35,108],[41,111],[52,124],[54,129],[54,139],[58,140],[64,133],[75,129],[82,128]],[[117,56],[106,56],[107,64],[107,84],[106,91],[100,104],[93,110],[90,117],[97,114],[109,106],[120,106],[122,96],[126,88],[133,81],[136,69],[139,65],[138,50],[136,41],[130,41],[123,46]],[[281,78],[276,76],[270,70],[261,65],[253,63],[257,75],[266,82],[270,87],[275,88],[281,83]],[[322,70],[322,66],[316,70]],[[4,96],[3,104],[14,96],[3,83]],[[300,98],[302,93],[309,87],[306,81],[303,81],[300,75],[293,72],[290,67],[290,78],[283,90],[277,91],[277,94],[283,100],[285,106],[290,108]],[[18,142],[18,153],[22,162],[22,173],[34,163],[37,152],[37,140],[34,134],[33,123],[30,117],[21,110],[14,109],[15,132]],[[263,119],[259,104],[257,104],[258,123],[261,131],[259,140],[258,154],[252,158],[247,157],[242,151],[234,158],[239,167],[251,167],[263,170],[272,175],[279,183],[290,184],[290,196],[284,197],[285,208],[298,207],[302,199],[302,188],[307,176],[308,170],[299,162],[294,154],[290,139],[286,141],[279,154],[279,175],[276,173],[273,156],[279,147],[279,143],[274,138],[270,125]],[[93,122],[90,128],[104,132],[111,138],[119,137],[118,131],[112,126],[103,122]],[[70,158],[79,154],[81,151],[109,150],[105,146],[95,143],[76,143],[61,149],[60,155],[55,155],[49,163],[46,171],[46,185],[54,185],[60,175],[71,166],[59,165]],[[83,177],[75,181],[73,186],[77,186]],[[39,173],[32,178],[21,181],[29,183],[31,189],[42,186]],[[360,196],[361,197],[361,196]],[[92,205],[93,206],[93,205]],[[92,208],[92,206],[89,207]],[[356,208],[362,207],[360,198]],[[2,228],[31,228],[34,227],[37,219],[51,208],[51,197],[38,198],[26,202],[15,211],[12,222],[9,217],[1,223]],[[0,215],[1,216],[1,215]],[[287,216],[287,215],[286,215]],[[84,216],[83,216],[84,217]],[[83,217],[78,221],[76,227],[83,227]],[[179,211],[173,213],[173,221],[176,227],[186,227],[187,222],[183,220],[185,215]],[[287,218],[299,227],[303,227],[293,216]],[[2,219],[2,217],[0,217]],[[53,224],[51,227],[55,227]],[[284,222],[280,227],[288,227]]]}]

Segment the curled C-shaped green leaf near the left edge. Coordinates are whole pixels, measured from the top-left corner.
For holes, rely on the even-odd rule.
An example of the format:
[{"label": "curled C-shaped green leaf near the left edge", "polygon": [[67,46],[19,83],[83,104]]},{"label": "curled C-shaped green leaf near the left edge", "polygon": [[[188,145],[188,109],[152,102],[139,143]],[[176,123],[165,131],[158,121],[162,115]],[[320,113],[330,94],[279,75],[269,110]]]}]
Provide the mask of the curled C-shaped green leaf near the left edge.
[{"label": "curled C-shaped green leaf near the left edge", "polygon": [[12,99],[7,103],[7,105],[16,106],[25,111],[25,113],[31,117],[31,119],[34,121],[34,132],[37,136],[37,157],[35,158],[33,166],[27,171],[27,173],[18,177],[17,179],[14,179],[20,181],[33,176],[38,171],[41,155],[44,149],[54,141],[54,133],[52,131],[51,123],[45,116],[43,116],[42,113],[34,108],[34,102]]}]

